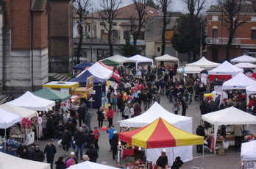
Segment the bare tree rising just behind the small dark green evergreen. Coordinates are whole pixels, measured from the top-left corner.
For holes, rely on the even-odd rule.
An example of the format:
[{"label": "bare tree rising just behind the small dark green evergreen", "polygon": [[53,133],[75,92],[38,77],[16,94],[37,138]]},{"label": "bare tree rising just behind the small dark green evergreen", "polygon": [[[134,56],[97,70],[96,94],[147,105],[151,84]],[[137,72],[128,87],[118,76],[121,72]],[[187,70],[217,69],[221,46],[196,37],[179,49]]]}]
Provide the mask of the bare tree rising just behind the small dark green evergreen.
[{"label": "bare tree rising just behind the small dark green evergreen", "polygon": [[138,15],[132,15],[130,18],[131,29],[130,32],[133,37],[133,45],[137,46],[137,40],[141,34],[141,29],[143,24],[148,21],[150,15],[146,15],[146,6],[148,0],[132,0],[135,5],[135,10],[138,12]]}]

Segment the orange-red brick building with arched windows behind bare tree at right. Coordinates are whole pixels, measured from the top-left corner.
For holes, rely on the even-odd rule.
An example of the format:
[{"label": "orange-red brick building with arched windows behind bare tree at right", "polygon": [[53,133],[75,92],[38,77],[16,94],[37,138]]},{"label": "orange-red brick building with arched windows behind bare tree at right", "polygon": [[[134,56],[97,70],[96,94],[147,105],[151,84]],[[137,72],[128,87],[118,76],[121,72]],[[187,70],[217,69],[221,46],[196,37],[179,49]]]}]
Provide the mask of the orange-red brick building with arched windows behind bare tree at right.
[{"label": "orange-red brick building with arched windows behind bare tree at right", "polygon": [[[249,2],[247,2],[249,3]],[[238,18],[238,24],[245,20],[246,23],[238,26],[235,36],[232,40],[230,57],[239,57],[243,54],[256,57],[256,13],[252,5],[242,7]],[[225,26],[227,16],[221,12],[221,7],[215,7],[208,10],[207,13],[207,58],[213,62],[225,60],[226,46],[229,37],[229,31]],[[243,17],[245,17],[243,19]]]}]

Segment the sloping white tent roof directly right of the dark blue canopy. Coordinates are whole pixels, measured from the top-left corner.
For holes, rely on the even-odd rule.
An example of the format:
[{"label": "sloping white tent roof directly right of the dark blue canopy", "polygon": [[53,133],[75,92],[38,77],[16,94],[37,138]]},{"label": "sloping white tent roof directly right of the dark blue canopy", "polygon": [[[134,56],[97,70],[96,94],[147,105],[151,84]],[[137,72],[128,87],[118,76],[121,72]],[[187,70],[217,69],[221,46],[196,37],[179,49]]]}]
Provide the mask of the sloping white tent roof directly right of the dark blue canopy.
[{"label": "sloping white tent roof directly right of the dark blue canopy", "polygon": [[108,68],[104,68],[99,62],[94,63],[90,68],[87,69],[93,76],[97,76],[100,79],[110,79],[110,76],[113,75],[113,71]]}]

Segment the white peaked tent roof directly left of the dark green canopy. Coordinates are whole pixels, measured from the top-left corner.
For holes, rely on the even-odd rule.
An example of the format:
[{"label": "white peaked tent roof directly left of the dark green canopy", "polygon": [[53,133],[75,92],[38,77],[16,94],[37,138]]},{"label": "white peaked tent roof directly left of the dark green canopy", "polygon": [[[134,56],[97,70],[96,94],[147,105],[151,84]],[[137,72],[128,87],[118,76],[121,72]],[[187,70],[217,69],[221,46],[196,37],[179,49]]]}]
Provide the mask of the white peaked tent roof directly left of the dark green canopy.
[{"label": "white peaked tent roof directly left of the dark green canopy", "polygon": [[36,111],[45,111],[46,109],[54,107],[55,101],[40,98],[27,91],[21,97],[8,102],[8,104],[13,104],[18,107],[24,107],[26,109],[34,109]]}]

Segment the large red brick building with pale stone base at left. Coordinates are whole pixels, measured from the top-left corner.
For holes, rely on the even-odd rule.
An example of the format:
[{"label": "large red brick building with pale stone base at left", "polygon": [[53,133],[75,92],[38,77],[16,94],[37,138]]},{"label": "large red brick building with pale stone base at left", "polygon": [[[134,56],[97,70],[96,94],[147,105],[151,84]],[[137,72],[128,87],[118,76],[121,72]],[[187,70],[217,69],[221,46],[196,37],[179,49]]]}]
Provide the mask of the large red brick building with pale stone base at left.
[{"label": "large red brick building with pale stone base at left", "polygon": [[68,72],[71,0],[2,0],[0,6],[0,90],[35,91],[49,71]]}]

